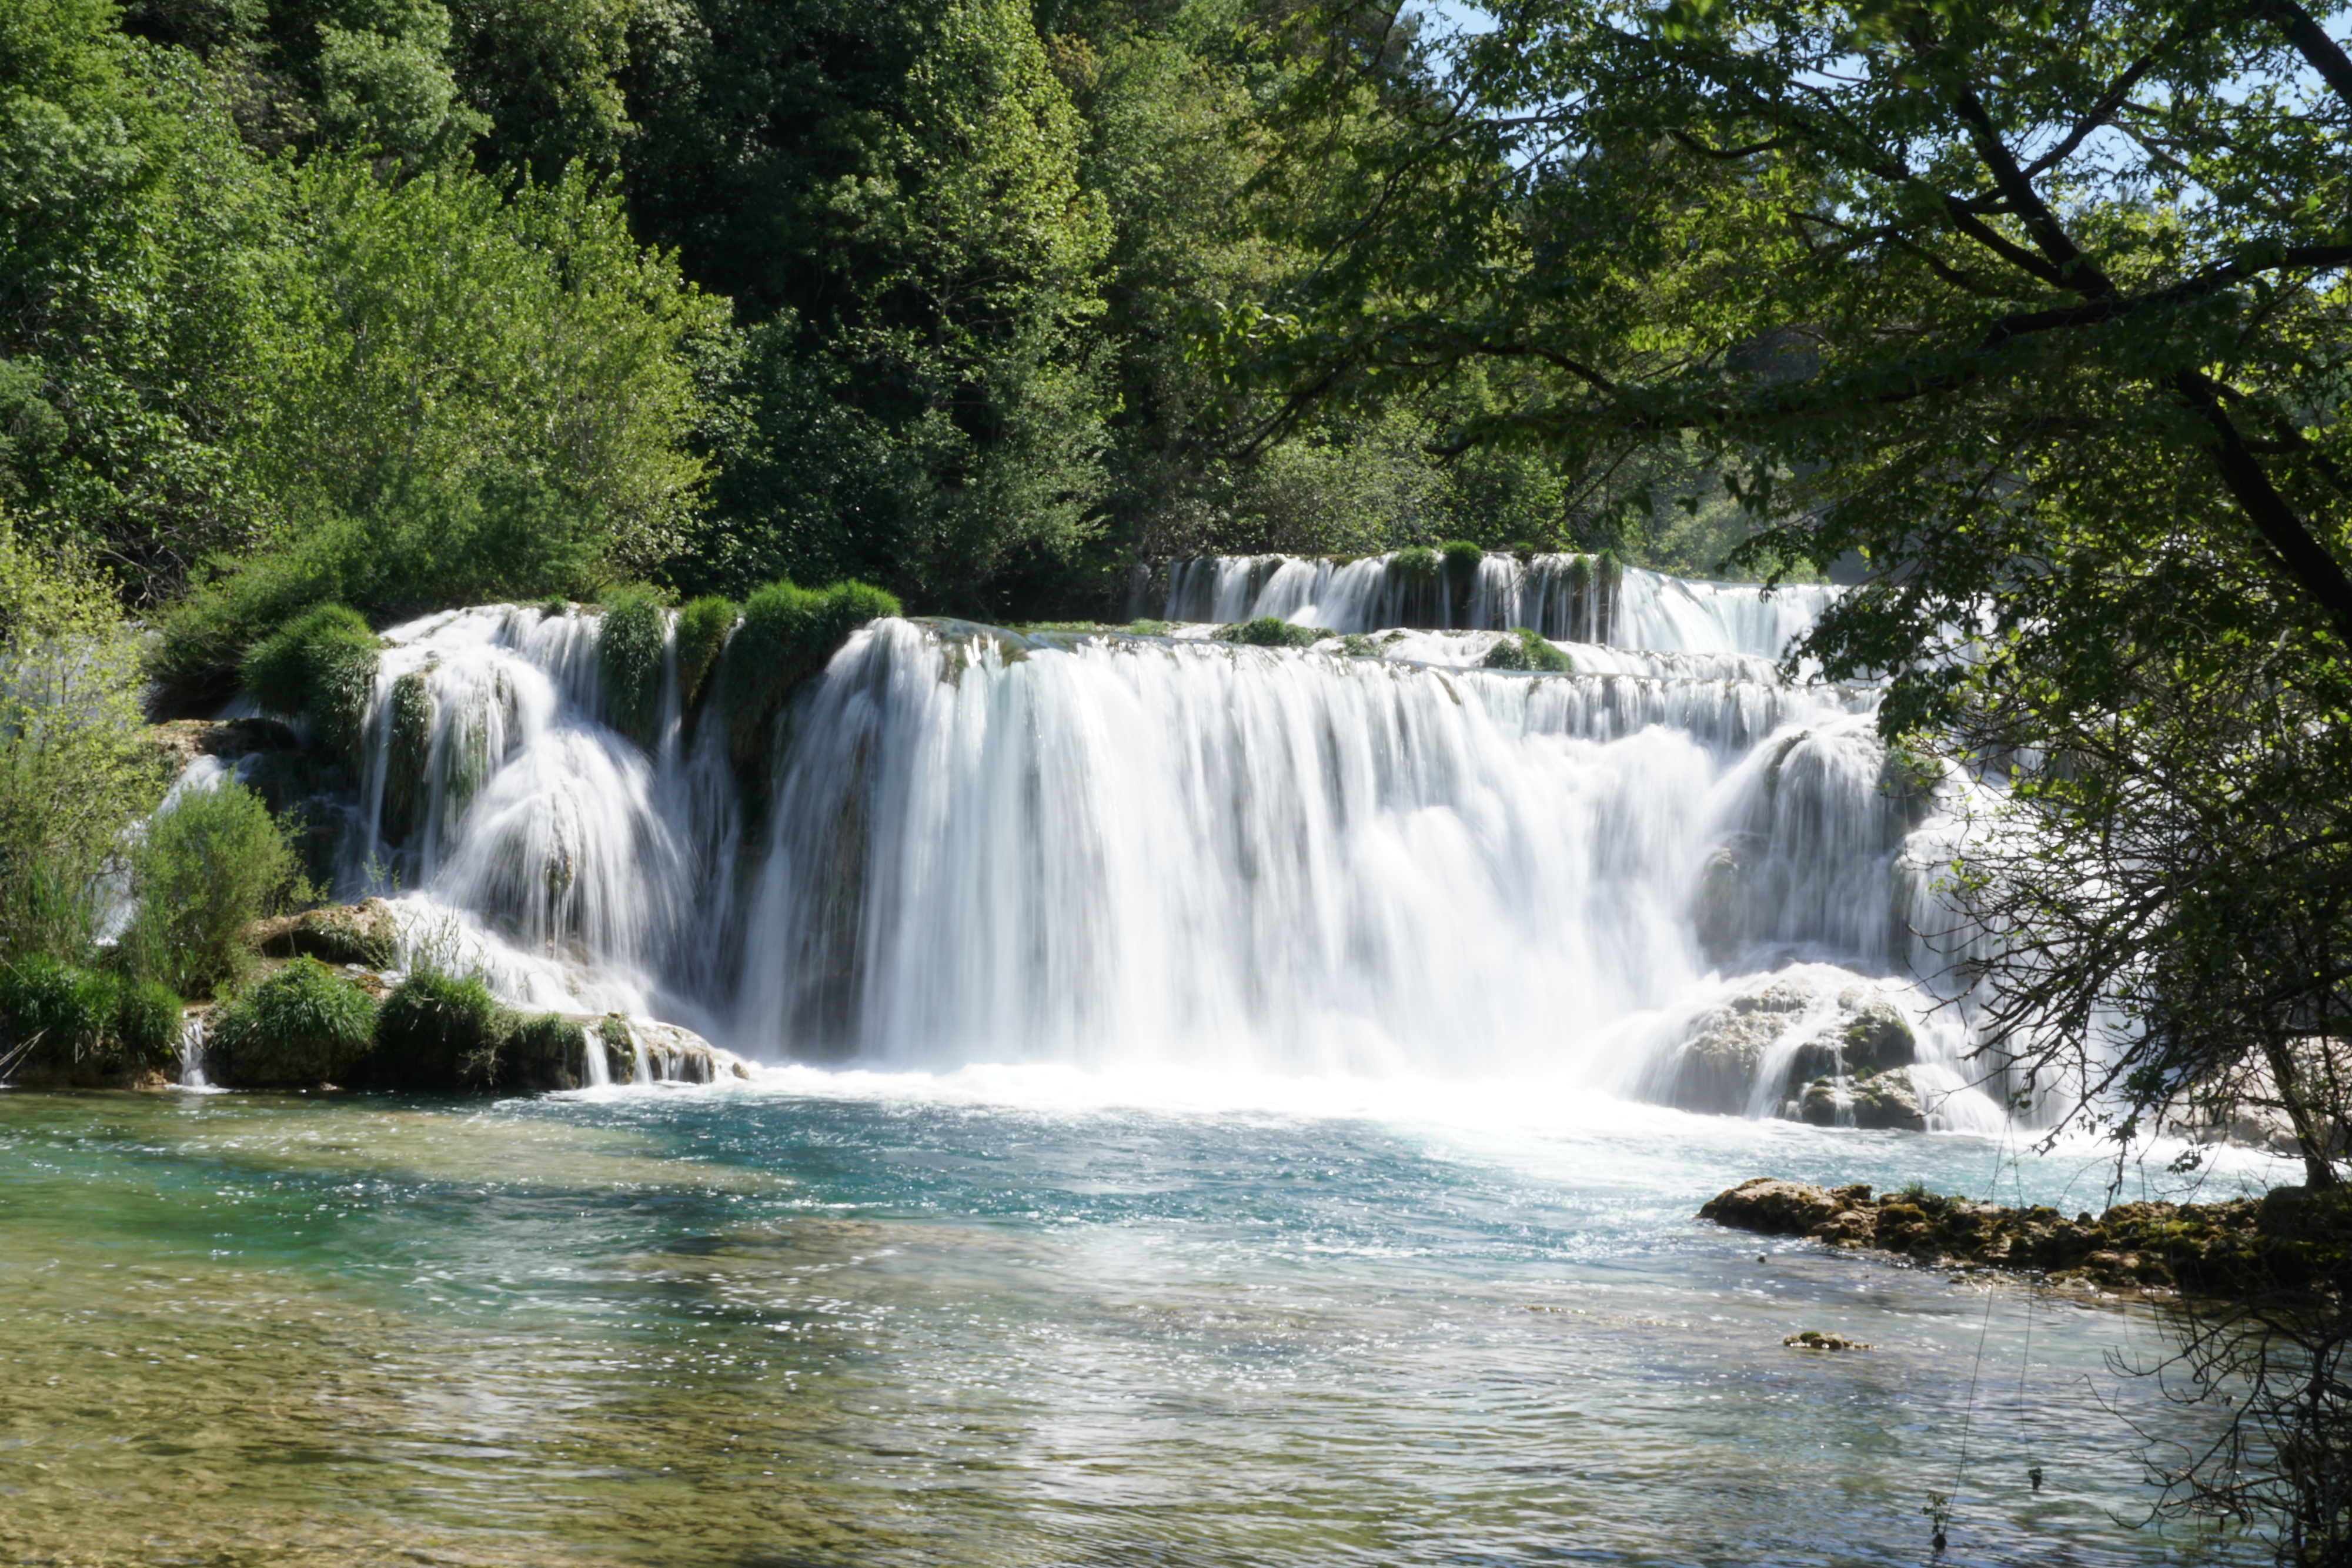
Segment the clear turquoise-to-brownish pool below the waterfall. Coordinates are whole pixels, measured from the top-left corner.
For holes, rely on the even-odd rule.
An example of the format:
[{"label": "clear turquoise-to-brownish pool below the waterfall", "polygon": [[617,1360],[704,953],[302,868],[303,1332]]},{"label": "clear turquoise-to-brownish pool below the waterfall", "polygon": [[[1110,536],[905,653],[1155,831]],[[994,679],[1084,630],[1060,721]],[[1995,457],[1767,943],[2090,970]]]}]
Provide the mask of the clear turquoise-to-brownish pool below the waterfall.
[{"label": "clear turquoise-to-brownish pool below the waterfall", "polygon": [[2227,1561],[2114,1521],[2152,1312],[1689,1218],[2105,1197],[2004,1154],[1543,1084],[5,1093],[0,1559],[1915,1563],[1966,1425],[1950,1561]]}]

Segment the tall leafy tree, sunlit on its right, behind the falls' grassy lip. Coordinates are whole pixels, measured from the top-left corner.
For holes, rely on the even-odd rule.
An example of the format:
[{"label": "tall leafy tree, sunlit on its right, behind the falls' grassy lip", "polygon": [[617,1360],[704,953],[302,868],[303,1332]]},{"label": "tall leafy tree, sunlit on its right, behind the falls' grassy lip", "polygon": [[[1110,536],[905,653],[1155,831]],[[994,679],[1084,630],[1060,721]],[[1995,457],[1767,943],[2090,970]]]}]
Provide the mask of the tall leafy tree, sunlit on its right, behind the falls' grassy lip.
[{"label": "tall leafy tree, sunlit on its right, behind the falls' grassy lip", "polygon": [[[753,324],[691,585],[884,576],[978,604],[1098,491],[1101,202],[1025,7],[703,0],[635,75],[633,212]],[[635,66],[633,66],[635,73]]]}]

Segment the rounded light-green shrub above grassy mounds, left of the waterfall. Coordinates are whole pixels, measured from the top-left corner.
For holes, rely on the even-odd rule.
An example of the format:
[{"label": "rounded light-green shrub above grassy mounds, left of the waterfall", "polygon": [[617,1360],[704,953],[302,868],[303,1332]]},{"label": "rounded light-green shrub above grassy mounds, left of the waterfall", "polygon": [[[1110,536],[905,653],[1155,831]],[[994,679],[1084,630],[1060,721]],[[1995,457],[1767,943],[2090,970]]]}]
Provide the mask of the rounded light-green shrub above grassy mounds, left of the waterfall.
[{"label": "rounded light-green shrub above grassy mounds, left of the waterfall", "polygon": [[148,820],[115,952],[132,976],[209,997],[245,961],[245,929],[308,891],[292,835],[259,795],[223,778]]}]

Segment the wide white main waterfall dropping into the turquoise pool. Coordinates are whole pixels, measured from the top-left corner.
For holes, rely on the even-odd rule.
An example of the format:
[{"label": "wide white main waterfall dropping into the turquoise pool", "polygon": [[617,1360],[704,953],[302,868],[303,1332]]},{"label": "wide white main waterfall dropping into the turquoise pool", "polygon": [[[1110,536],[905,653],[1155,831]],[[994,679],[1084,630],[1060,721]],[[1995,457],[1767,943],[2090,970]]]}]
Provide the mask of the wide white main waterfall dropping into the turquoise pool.
[{"label": "wide white main waterfall dropping into the turquoise pool", "polygon": [[[1997,1126],[1910,976],[1936,823],[1889,795],[1867,693],[1771,668],[1820,590],[1658,581],[1613,621],[1658,646],[1562,644],[1552,677],[1475,668],[1491,632],[1369,658],[882,621],[755,776],[675,670],[649,748],[604,726],[593,614],[430,616],[388,635],[343,893],[393,891],[515,1001],[771,1063],[1545,1074],[1780,1114],[1799,1048],[1882,1006],[1936,1121]],[[1693,1088],[1686,1041],[1755,1009],[1762,1072]]]}]

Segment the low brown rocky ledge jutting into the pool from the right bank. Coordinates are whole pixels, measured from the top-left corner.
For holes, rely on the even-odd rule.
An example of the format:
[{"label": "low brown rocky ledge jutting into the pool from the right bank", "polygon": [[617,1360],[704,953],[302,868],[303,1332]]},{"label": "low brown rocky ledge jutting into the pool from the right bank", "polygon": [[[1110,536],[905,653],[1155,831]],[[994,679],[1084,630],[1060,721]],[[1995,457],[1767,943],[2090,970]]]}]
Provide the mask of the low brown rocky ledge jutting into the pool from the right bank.
[{"label": "low brown rocky ledge jutting into the pool from the right bank", "polygon": [[2117,1204],[2100,1215],[2004,1208],[1907,1187],[1811,1187],[1771,1175],[1698,1211],[1731,1229],[1877,1248],[1945,1269],[2004,1269],[2098,1291],[2340,1293],[2352,1286],[2352,1190],[2274,1187],[2225,1204]]}]

